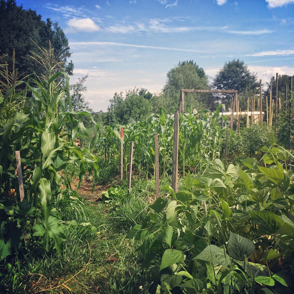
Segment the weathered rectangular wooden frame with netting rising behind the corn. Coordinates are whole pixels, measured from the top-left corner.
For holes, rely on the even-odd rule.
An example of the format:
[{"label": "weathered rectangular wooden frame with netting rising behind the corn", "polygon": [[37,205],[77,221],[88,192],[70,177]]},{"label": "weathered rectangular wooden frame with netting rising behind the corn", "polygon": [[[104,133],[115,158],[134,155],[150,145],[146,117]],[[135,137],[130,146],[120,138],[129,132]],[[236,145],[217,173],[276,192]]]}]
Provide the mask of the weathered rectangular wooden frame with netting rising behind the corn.
[{"label": "weathered rectangular wooden frame with netting rising behind the corn", "polygon": [[238,91],[237,90],[194,90],[194,89],[189,90],[189,89],[181,89],[179,113],[183,113],[183,111],[185,109],[185,93],[221,93],[221,94],[234,94],[230,129],[231,130],[233,129],[234,109],[236,111],[236,122],[237,122],[237,128],[238,128],[238,124],[239,124],[239,116],[238,116],[239,101],[238,101]]}]

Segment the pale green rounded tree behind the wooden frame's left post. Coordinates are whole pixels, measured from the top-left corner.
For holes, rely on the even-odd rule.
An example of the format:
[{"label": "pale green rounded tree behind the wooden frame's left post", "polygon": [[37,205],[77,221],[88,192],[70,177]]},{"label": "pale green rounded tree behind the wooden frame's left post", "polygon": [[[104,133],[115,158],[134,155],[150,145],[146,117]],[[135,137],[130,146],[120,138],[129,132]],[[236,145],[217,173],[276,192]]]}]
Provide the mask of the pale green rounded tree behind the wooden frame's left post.
[{"label": "pale green rounded tree behind the wooden frame's left post", "polygon": [[[163,87],[163,96],[158,101],[153,100],[154,107],[160,106],[170,109],[178,109],[181,89],[208,89],[208,77],[204,70],[199,68],[193,60],[179,62],[177,66],[168,71],[166,84]],[[190,94],[188,97],[189,104],[192,107],[199,106],[201,98],[195,99],[196,95]]]}]

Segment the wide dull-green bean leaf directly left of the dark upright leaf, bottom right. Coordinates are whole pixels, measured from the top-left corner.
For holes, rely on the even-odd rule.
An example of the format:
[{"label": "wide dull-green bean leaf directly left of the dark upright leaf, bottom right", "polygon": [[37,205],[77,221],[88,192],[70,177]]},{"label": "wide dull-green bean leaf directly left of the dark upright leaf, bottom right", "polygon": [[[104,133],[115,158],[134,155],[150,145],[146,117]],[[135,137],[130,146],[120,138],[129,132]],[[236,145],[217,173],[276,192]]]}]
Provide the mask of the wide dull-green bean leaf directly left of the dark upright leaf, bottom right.
[{"label": "wide dull-green bean leaf directly left of the dark upright leaf, bottom right", "polygon": [[225,253],[223,248],[216,245],[208,245],[200,254],[193,259],[200,259],[214,264],[223,265],[225,268],[231,264],[230,257]]}]

